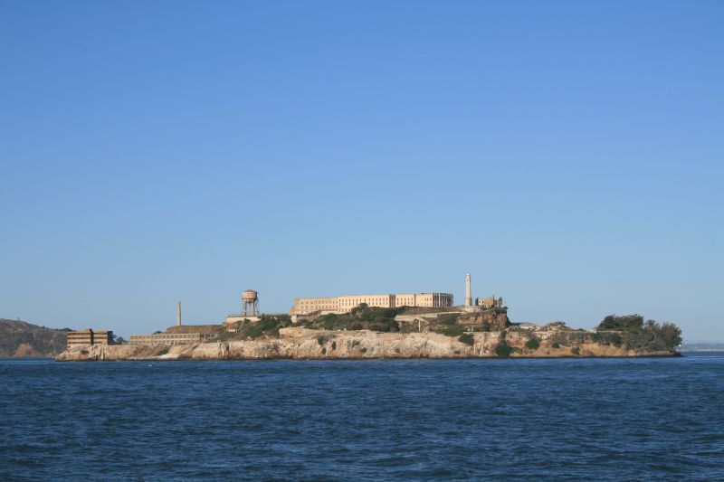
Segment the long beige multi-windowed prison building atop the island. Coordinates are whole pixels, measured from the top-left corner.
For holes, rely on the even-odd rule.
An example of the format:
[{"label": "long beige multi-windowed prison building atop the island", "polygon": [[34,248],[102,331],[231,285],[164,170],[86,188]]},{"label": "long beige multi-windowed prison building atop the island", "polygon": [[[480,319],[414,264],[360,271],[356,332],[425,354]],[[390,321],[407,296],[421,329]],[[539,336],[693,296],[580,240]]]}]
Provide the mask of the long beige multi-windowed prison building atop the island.
[{"label": "long beige multi-windowed prison building atop the island", "polygon": [[335,298],[294,298],[290,315],[310,313],[348,313],[362,303],[369,307],[452,307],[450,293],[416,293],[412,295],[346,295]]}]

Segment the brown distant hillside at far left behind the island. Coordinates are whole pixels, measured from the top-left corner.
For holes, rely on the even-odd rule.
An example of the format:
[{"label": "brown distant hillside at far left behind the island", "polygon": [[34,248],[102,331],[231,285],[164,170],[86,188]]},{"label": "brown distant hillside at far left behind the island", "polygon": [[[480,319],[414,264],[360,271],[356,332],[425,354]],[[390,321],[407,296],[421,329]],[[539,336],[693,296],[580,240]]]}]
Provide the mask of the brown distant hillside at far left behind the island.
[{"label": "brown distant hillside at far left behind the island", "polygon": [[65,349],[65,330],[0,318],[0,358],[46,358]]}]

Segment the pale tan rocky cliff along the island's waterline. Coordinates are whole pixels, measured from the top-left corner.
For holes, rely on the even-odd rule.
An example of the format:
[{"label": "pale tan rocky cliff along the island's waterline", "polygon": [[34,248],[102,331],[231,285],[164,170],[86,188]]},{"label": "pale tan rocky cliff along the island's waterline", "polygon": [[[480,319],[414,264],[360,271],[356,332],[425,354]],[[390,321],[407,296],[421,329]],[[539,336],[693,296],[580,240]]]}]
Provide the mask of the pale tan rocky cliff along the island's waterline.
[{"label": "pale tan rocky cliff along the island's waterline", "polygon": [[[572,332],[578,333],[578,332]],[[537,340],[531,343],[531,339]],[[506,349],[501,350],[500,347]],[[205,343],[199,345],[109,345],[66,351],[58,361],[111,360],[266,360],[275,358],[478,358],[651,356],[669,352],[636,353],[622,346],[601,345],[584,336],[560,332],[500,331],[452,337],[437,333],[377,333],[282,328],[279,338]]]}]

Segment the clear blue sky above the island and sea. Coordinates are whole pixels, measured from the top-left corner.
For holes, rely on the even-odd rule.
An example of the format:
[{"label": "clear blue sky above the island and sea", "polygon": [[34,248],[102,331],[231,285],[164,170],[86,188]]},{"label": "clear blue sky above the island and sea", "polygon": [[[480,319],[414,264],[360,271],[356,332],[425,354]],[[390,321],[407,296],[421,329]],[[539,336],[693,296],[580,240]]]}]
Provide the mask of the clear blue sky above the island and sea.
[{"label": "clear blue sky above the island and sea", "polygon": [[724,341],[724,3],[0,0],[0,317],[502,296]]}]

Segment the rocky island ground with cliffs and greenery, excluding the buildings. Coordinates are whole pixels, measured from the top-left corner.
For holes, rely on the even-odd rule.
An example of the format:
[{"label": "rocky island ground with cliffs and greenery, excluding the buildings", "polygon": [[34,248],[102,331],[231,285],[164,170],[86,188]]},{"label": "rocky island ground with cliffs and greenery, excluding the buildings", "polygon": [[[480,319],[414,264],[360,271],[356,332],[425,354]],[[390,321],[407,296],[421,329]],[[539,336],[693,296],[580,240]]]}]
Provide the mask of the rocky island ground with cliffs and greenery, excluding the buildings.
[{"label": "rocky island ground with cliffs and greenery, excluding the buildings", "polygon": [[[231,319],[231,321],[229,321]],[[149,338],[150,337],[150,338]],[[157,340],[157,341],[149,341]],[[676,356],[681,329],[640,315],[605,317],[591,330],[564,322],[510,323],[498,304],[370,307],[348,313],[230,317],[221,325],[171,326],[124,345],[71,347],[57,361],[331,360]]]}]

